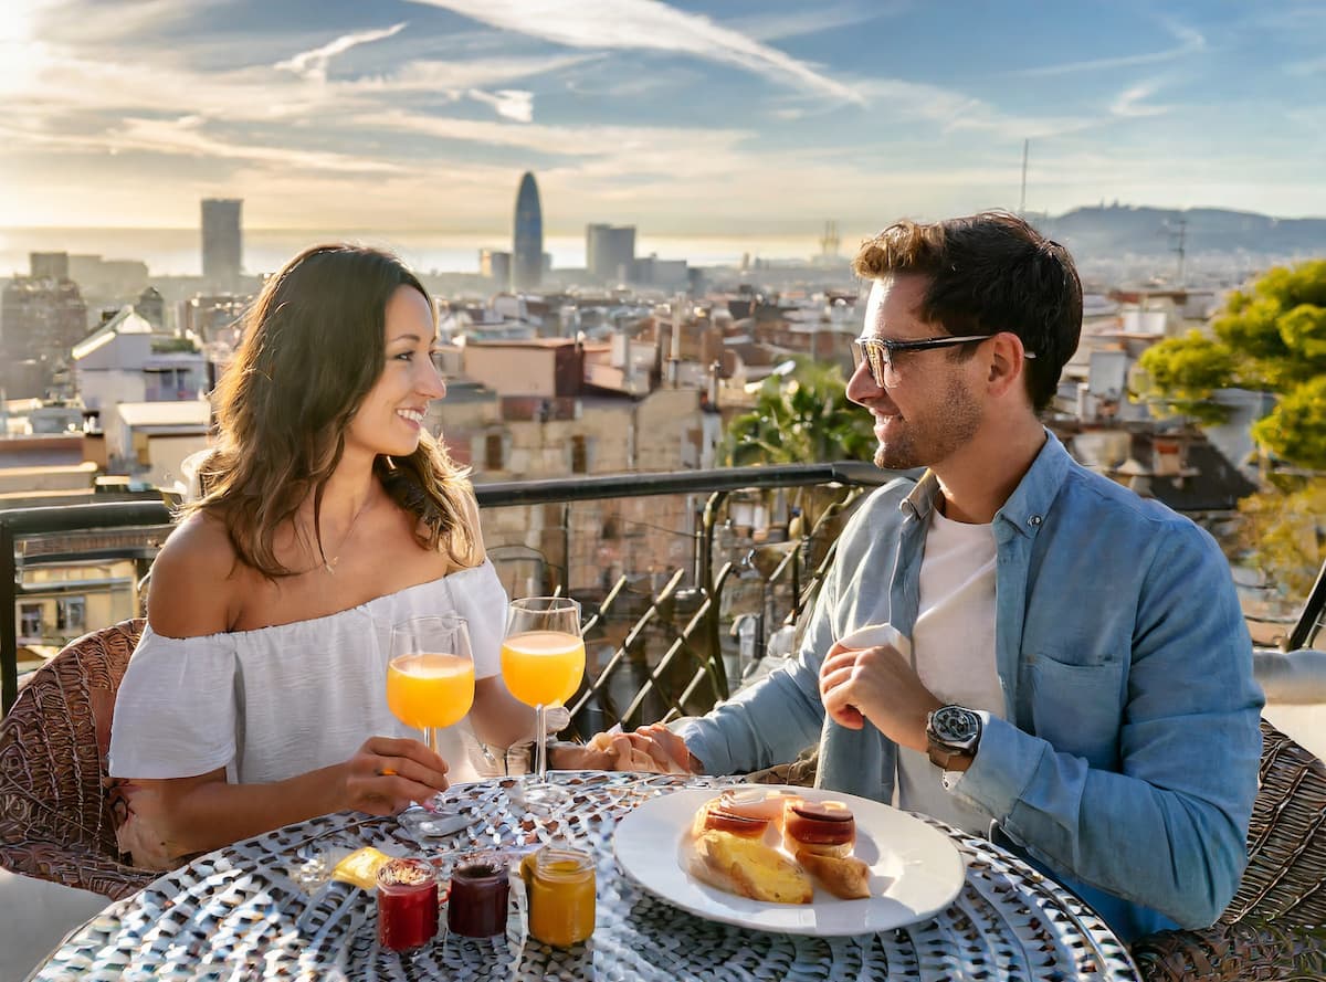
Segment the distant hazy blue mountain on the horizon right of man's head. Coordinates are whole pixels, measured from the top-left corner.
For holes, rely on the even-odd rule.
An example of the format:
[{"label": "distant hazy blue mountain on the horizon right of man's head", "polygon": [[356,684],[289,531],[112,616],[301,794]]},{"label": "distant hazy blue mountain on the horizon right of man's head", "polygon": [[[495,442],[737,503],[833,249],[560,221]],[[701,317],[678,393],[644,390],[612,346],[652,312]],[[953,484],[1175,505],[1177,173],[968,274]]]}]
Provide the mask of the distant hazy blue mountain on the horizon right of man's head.
[{"label": "distant hazy blue mountain on the horizon right of man's head", "polygon": [[1221,208],[1074,208],[1058,217],[1033,219],[1045,235],[1074,254],[1159,256],[1177,246],[1183,228],[1189,256],[1225,253],[1278,257],[1326,256],[1326,219],[1273,219]]}]

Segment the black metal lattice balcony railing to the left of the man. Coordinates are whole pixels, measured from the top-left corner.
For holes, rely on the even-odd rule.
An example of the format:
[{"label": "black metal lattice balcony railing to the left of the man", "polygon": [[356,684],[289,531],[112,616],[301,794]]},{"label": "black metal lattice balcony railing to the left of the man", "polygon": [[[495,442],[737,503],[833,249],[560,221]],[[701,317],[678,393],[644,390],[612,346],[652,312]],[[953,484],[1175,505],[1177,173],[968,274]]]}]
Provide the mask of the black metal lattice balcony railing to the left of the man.
[{"label": "black metal lattice balcony railing to the left of the man", "polygon": [[[636,724],[707,709],[731,693],[729,669],[749,668],[774,624],[793,620],[818,586],[837,538],[834,519],[863,489],[891,477],[869,464],[839,463],[581,476],[475,486],[489,509],[610,502],[622,498],[686,496],[695,501],[684,565],[656,573],[662,584],[640,600],[636,571],[625,570],[602,588],[568,584],[568,558],[541,563],[541,587],[568,591],[586,603],[585,635],[591,652],[586,682],[572,704],[578,729]],[[736,492],[823,488],[817,521],[792,542],[758,543],[723,527],[725,502]],[[703,502],[703,504],[701,504]],[[0,512],[0,696],[8,712],[17,693],[17,602],[38,588],[23,573],[38,567],[131,559],[146,576],[170,531],[170,509],[160,501],[107,502]],[[487,525],[487,521],[485,521]],[[560,526],[569,537],[570,516]],[[720,535],[724,531],[727,535]],[[720,541],[723,539],[723,541]],[[503,546],[489,542],[496,557]],[[537,550],[522,547],[538,554]],[[812,562],[813,561],[813,562]],[[737,594],[757,598],[740,611]],[[751,606],[751,604],[748,604]],[[748,657],[724,631],[741,615],[754,628]],[[90,626],[95,627],[95,626]],[[748,632],[749,633],[749,632]]]}]

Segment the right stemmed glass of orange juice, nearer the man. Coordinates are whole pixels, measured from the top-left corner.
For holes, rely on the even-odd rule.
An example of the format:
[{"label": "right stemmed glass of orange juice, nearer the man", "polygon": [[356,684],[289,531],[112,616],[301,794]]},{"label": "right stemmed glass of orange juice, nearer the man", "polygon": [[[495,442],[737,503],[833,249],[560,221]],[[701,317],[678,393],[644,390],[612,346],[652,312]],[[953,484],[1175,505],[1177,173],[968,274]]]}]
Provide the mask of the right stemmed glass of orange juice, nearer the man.
[{"label": "right stemmed glass of orange juice, nearer the man", "polygon": [[526,804],[558,804],[566,791],[548,783],[545,713],[564,705],[585,675],[579,604],[568,596],[513,600],[501,644],[501,673],[511,694],[534,708],[534,774],[526,781]]}]

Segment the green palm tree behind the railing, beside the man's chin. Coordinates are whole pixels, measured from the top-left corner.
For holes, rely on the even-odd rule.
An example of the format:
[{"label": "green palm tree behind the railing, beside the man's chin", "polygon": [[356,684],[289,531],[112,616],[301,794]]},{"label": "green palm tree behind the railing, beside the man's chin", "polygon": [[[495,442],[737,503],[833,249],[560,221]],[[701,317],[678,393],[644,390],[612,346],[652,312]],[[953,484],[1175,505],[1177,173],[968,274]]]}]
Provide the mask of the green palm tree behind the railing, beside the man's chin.
[{"label": "green palm tree behind the railing, beside the man's chin", "polygon": [[754,408],[732,419],[723,456],[745,466],[870,460],[874,452],[870,413],[847,402],[838,366],[796,359],[790,375],[770,375]]}]

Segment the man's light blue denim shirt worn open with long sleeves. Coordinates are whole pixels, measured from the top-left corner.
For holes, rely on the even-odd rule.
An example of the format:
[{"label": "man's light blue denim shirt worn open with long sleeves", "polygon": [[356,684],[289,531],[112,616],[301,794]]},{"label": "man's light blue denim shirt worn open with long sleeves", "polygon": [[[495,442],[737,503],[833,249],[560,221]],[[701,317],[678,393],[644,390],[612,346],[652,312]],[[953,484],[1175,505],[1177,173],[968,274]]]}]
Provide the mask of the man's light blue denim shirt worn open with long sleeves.
[{"label": "man's light blue denim shirt worn open with long sleeves", "polygon": [[[821,787],[891,800],[894,743],[825,716],[819,664],[867,624],[911,635],[937,494],[927,473],[857,510],[798,656],[678,728],[705,770],[766,767],[818,738]],[[1050,433],[993,530],[1005,714],[985,718],[953,794],[1126,941],[1212,924],[1246,864],[1261,757],[1262,693],[1225,558]]]}]

